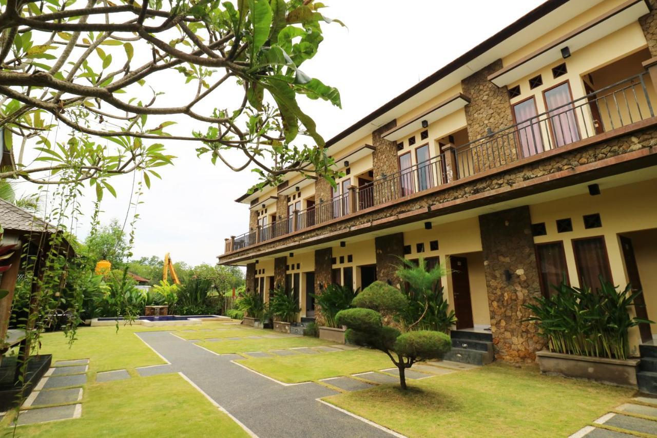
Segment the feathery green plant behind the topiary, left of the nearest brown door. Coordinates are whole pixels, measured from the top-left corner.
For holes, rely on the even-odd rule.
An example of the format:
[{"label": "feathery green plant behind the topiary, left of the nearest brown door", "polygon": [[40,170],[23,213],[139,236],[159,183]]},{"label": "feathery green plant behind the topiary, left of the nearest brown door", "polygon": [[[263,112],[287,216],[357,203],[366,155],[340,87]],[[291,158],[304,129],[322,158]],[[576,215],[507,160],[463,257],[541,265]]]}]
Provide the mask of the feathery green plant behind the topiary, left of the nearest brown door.
[{"label": "feathery green plant behind the topiary, left of the nearest brown door", "polygon": [[[447,333],[456,324],[456,314],[449,309],[443,295],[440,279],[447,274],[445,267],[438,264],[426,269],[426,261],[417,262],[401,259],[396,275],[406,291],[408,306],[399,319],[405,330],[437,330]],[[404,284],[405,283],[405,284]],[[404,287],[404,286],[408,287]]]}]

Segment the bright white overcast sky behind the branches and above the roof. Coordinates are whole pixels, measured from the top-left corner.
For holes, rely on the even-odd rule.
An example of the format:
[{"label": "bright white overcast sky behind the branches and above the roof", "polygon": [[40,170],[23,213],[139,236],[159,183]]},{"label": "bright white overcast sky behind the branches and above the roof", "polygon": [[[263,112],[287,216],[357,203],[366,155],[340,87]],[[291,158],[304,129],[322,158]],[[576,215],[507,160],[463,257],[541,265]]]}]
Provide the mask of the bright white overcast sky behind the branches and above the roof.
[{"label": "bright white overcast sky behind the branches and above the roof", "polygon": [[[339,18],[324,26],[325,39],[315,59],[302,70],[325,84],[338,87],[342,110],[325,101],[305,99],[319,133],[330,139],[449,61],[495,34],[541,0],[327,0],[323,13]],[[159,86],[158,86],[159,85]],[[164,86],[163,86],[164,85]],[[154,87],[166,91],[166,84]],[[175,95],[175,90],[170,91]],[[170,98],[170,96],[168,96]],[[229,104],[227,104],[229,105]],[[227,106],[226,105],[226,106]],[[214,264],[223,253],[223,239],[248,230],[248,208],[234,202],[253,183],[252,172],[235,173],[209,157],[196,158],[196,144],[165,142],[179,158],[174,166],[158,169],[163,180],[152,178],[141,197],[141,216],[133,252],[139,256],[170,252],[174,262]],[[118,199],[106,194],[102,222],[123,220],[129,203],[131,176],[111,179]],[[21,189],[28,189],[20,184]],[[89,193],[85,210],[91,212]],[[78,226],[83,239],[89,232]]]}]

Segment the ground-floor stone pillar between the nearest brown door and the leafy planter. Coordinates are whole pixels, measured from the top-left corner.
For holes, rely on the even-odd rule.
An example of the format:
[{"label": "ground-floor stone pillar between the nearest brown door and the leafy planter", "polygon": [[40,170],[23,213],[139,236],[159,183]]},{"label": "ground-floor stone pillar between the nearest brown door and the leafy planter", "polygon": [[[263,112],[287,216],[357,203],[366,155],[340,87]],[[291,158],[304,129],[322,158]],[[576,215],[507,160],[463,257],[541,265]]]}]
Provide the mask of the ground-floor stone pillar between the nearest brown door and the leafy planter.
[{"label": "ground-floor stone pillar between the nearest brown door and the leafy planter", "polygon": [[532,313],[523,304],[541,295],[530,208],[484,214],[479,227],[495,357],[533,362],[543,339],[535,324],[522,322]]}]

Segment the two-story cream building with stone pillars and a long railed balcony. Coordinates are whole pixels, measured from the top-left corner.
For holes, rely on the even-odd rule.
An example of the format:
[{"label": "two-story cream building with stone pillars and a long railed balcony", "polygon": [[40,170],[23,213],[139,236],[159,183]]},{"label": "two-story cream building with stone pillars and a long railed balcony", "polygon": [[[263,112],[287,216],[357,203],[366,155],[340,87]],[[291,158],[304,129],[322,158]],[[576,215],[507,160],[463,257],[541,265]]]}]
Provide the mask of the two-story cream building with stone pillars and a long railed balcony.
[{"label": "two-story cream building with stone pillars and a long railed balcony", "polygon": [[[444,263],[457,328],[509,361],[543,348],[523,304],[563,273],[631,282],[657,320],[653,6],[547,1],[330,139],[337,188],[289,174],[240,196],[249,230],[219,263],[246,266],[265,299],[293,289],[303,317],[320,285],[394,281],[399,257]],[[631,333],[633,353],[652,333]]]}]

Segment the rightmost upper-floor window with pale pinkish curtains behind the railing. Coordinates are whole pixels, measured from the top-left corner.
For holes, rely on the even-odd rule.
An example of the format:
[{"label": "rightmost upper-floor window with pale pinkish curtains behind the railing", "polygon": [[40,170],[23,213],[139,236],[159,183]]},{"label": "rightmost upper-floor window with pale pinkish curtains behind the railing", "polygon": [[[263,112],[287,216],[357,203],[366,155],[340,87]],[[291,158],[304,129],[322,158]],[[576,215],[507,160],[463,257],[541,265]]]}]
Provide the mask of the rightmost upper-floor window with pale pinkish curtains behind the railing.
[{"label": "rightmost upper-floor window with pale pinkish curtains behind the railing", "polygon": [[570,85],[564,82],[543,93],[552,138],[556,147],[579,140],[577,118],[570,97]]}]

